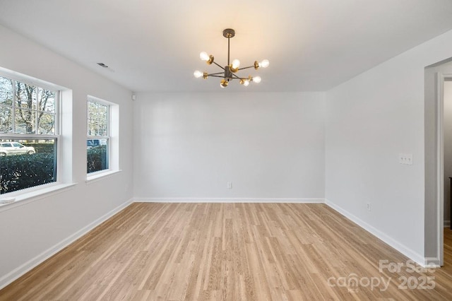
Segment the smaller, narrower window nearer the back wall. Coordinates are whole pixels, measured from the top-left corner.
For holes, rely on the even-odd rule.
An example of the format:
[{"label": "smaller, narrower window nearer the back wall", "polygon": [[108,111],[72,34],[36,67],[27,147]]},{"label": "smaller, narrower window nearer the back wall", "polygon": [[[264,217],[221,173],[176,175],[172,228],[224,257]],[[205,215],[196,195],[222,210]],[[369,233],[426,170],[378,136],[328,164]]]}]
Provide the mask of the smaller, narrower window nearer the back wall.
[{"label": "smaller, narrower window nearer the back wall", "polygon": [[109,170],[110,112],[108,102],[88,98],[87,173]]}]

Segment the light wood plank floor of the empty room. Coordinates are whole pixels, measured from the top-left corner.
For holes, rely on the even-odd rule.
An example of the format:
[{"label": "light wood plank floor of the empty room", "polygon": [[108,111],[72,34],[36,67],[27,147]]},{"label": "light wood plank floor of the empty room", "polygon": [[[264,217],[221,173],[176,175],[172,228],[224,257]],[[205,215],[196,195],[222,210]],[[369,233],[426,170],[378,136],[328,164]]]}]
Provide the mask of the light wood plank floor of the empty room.
[{"label": "light wood plank floor of the empty room", "polygon": [[424,273],[323,204],[133,203],[0,300],[452,300],[445,234]]}]

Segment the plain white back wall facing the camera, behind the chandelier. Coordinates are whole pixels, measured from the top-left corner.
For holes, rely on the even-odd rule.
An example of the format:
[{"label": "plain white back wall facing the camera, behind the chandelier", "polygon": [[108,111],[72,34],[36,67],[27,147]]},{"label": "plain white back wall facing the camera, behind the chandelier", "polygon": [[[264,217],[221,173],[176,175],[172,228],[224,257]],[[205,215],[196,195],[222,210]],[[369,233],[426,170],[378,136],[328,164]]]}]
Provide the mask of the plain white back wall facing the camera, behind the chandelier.
[{"label": "plain white back wall facing the camera, behind the chandelier", "polygon": [[323,199],[323,93],[141,93],[134,104],[136,198]]}]

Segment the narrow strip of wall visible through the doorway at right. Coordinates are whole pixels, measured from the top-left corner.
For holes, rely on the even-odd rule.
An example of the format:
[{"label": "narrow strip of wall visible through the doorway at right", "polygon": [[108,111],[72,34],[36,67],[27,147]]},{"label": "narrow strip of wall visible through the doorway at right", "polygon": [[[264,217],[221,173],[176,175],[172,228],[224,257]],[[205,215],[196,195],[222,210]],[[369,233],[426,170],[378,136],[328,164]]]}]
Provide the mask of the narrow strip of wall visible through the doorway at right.
[{"label": "narrow strip of wall visible through the doorway at right", "polygon": [[444,82],[444,220],[451,221],[452,81]]}]

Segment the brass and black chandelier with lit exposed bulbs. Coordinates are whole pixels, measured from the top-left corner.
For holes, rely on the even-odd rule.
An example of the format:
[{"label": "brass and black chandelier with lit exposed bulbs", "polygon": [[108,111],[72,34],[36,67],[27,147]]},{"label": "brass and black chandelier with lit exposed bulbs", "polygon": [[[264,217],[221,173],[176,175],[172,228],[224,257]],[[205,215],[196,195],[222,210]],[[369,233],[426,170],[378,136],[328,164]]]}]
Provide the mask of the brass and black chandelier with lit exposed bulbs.
[{"label": "brass and black chandelier with lit exposed bulbs", "polygon": [[222,78],[222,80],[220,81],[221,88],[227,87],[229,82],[232,81],[233,79],[239,80],[239,83],[241,83],[245,87],[248,86],[249,83],[251,83],[251,82],[253,82],[253,83],[261,82],[261,76],[241,77],[241,76],[237,76],[235,74],[235,73],[237,73],[237,71],[243,70],[243,69],[254,68],[257,70],[259,68],[266,68],[266,67],[268,67],[268,64],[270,64],[270,62],[268,61],[268,59],[264,59],[261,62],[254,61],[254,64],[252,66],[239,68],[240,61],[238,59],[234,59],[234,61],[232,61],[232,64],[230,64],[230,39],[231,39],[231,37],[234,37],[234,35],[235,35],[235,30],[233,30],[233,29],[227,28],[227,29],[223,30],[223,37],[227,38],[227,66],[222,67],[219,64],[217,64],[217,62],[213,60],[212,54],[209,55],[209,54],[207,54],[207,52],[201,52],[201,54],[199,54],[199,58],[201,60],[206,61],[206,63],[208,65],[215,64],[215,65],[219,66],[220,69],[222,69],[222,71],[218,72],[218,73],[207,73],[207,72],[201,72],[201,71],[194,71],[193,74],[196,78],[202,77],[204,79],[207,79],[209,76]]}]

